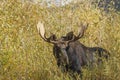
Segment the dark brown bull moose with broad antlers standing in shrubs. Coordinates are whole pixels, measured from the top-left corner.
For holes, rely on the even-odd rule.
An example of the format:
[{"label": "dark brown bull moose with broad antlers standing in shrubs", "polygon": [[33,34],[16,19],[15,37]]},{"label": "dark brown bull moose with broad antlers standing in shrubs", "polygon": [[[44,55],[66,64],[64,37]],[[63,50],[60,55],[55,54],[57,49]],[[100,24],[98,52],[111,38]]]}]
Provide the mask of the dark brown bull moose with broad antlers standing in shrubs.
[{"label": "dark brown bull moose with broad antlers standing in shrubs", "polygon": [[81,74],[82,66],[93,65],[95,62],[99,64],[102,62],[102,58],[108,59],[110,55],[106,49],[101,47],[86,47],[78,41],[83,37],[87,27],[88,24],[81,24],[81,29],[79,29],[77,36],[71,31],[66,36],[57,39],[55,34],[51,34],[47,38],[43,23],[38,22],[37,24],[37,30],[41,38],[54,45],[53,54],[57,60],[58,67],[64,71],[71,70],[78,74]]}]

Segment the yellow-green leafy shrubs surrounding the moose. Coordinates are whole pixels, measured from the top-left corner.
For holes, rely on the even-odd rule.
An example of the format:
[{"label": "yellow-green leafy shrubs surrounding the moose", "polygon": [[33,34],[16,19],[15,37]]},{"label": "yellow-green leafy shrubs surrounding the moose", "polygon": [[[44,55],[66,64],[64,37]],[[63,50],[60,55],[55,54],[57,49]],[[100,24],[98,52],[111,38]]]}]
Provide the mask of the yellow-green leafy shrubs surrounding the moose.
[{"label": "yellow-green leafy shrubs surrounding the moose", "polygon": [[0,0],[0,80],[73,79],[57,67],[53,45],[38,35],[38,21],[44,23],[47,36],[58,37],[71,30],[77,34],[81,22],[89,23],[81,43],[103,47],[111,57],[101,68],[83,68],[83,80],[120,80],[120,13],[114,1],[107,10],[93,5],[94,0],[66,5],[45,1]]}]

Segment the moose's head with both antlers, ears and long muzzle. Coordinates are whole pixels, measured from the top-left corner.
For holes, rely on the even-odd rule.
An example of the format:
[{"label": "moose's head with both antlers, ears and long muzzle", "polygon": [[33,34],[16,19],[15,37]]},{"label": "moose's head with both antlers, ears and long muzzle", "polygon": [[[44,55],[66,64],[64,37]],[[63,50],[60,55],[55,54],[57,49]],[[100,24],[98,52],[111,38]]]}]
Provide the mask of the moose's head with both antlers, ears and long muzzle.
[{"label": "moose's head with both antlers, ears and long muzzle", "polygon": [[55,34],[52,34],[49,38],[46,38],[44,25],[41,22],[38,22],[37,29],[38,29],[39,35],[44,41],[48,43],[52,43],[54,44],[55,47],[59,48],[59,52],[62,53],[62,54],[59,53],[59,55],[63,55],[62,57],[66,59],[65,61],[67,62],[67,64],[69,64],[69,59],[68,59],[66,49],[68,48],[69,43],[75,42],[83,36],[84,31],[86,30],[88,24],[86,25],[81,24],[81,25],[82,25],[82,28],[79,29],[79,34],[77,36],[73,34],[73,31],[71,31],[67,33],[66,36],[62,36],[60,39],[57,39]]}]

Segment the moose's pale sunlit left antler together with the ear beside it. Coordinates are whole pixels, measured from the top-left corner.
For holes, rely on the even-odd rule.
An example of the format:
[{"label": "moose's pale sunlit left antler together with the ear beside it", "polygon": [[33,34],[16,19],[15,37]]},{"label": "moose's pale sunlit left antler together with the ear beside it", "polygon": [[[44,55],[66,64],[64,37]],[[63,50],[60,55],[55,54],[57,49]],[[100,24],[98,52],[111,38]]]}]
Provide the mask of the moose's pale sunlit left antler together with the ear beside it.
[{"label": "moose's pale sunlit left antler together with the ear beside it", "polygon": [[46,38],[46,36],[45,36],[45,29],[44,29],[43,23],[38,22],[37,30],[38,30],[39,35],[41,36],[41,38],[43,40],[45,40],[46,42],[53,43],[53,44],[57,43],[57,41],[55,40],[56,36],[54,34],[52,34],[49,38]]}]

